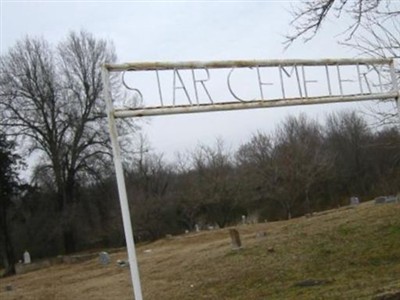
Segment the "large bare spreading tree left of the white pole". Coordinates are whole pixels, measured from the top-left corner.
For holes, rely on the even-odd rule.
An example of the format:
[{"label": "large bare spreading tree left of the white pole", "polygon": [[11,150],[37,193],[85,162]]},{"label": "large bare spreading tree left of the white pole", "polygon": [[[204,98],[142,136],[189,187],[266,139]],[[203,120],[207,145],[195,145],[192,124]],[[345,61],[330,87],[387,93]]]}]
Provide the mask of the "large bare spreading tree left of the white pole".
[{"label": "large bare spreading tree left of the white pole", "polygon": [[115,60],[109,42],[84,31],[57,48],[28,37],[1,57],[1,125],[28,154],[39,151],[41,170],[52,174],[67,252],[75,250],[78,185],[110,158],[100,65]]}]

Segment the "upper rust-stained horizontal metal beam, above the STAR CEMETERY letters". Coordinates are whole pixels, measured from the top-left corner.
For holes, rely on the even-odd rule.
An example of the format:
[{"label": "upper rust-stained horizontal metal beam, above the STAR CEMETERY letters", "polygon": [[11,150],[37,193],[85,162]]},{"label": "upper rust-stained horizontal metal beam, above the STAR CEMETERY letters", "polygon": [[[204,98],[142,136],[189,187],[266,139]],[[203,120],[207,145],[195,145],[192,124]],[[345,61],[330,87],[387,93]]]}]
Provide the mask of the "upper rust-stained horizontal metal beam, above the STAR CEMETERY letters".
[{"label": "upper rust-stained horizontal metal beam, above the STAR CEMETERY letters", "polygon": [[121,71],[152,71],[172,69],[222,69],[247,67],[278,67],[278,66],[330,66],[330,65],[379,65],[390,64],[392,58],[338,58],[338,59],[273,59],[273,60],[227,60],[227,61],[186,61],[186,62],[132,62],[123,64],[105,64],[110,72]]}]

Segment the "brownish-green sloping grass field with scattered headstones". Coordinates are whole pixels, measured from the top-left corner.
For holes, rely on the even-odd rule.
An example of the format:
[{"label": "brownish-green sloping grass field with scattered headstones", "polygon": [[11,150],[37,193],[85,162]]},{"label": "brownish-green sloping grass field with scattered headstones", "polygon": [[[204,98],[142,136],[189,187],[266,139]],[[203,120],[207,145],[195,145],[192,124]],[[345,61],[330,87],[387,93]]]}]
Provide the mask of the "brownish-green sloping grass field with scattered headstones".
[{"label": "brownish-green sloping grass field with scattered headstones", "polygon": [[[400,299],[400,204],[236,229],[236,251],[228,229],[139,245],[144,299]],[[126,256],[0,279],[0,299],[133,299],[129,268],[115,264]]]}]

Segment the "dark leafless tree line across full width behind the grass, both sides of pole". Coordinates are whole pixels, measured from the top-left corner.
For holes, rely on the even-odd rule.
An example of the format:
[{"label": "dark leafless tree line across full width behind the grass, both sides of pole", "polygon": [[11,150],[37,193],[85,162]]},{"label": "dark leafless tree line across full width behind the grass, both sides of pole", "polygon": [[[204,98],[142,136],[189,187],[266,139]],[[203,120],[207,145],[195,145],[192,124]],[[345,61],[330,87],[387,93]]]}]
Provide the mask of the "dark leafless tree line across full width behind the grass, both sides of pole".
[{"label": "dark leafless tree line across full width behind the grass, both sides of pole", "polygon": [[[257,132],[235,151],[217,139],[173,163],[142,151],[125,167],[134,236],[150,241],[194,231],[196,225],[223,228],[242,222],[242,216],[255,222],[290,219],[348,205],[351,196],[366,201],[397,194],[399,153],[397,127],[373,130],[355,112],[332,114],[324,124],[306,115],[287,117],[272,134]],[[77,250],[124,245],[109,170],[96,181],[76,183]],[[9,239],[15,257],[25,249],[34,257],[66,251],[57,191],[45,180],[2,201],[9,233],[2,238]]]}]

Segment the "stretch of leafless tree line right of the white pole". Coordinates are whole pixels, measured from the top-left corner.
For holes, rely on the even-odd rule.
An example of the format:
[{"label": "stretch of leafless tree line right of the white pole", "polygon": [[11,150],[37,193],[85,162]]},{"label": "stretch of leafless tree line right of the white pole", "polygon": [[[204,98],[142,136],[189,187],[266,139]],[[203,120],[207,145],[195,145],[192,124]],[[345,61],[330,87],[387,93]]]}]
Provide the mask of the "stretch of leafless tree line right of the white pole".
[{"label": "stretch of leafless tree line right of the white pole", "polygon": [[355,112],[324,124],[288,117],[273,134],[255,133],[236,151],[221,139],[175,163],[145,154],[126,171],[137,238],[220,228],[243,215],[281,220],[398,193],[400,133],[372,130]]}]

